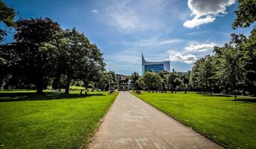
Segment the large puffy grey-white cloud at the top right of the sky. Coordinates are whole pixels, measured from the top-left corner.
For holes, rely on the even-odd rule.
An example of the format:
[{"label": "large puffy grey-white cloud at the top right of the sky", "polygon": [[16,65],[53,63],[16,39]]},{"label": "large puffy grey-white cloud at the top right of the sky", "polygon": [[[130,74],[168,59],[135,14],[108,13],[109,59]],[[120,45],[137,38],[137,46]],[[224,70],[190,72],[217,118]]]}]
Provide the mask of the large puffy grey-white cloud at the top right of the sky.
[{"label": "large puffy grey-white cloud at the top right of the sky", "polygon": [[216,16],[227,14],[226,8],[235,2],[235,0],[189,0],[188,5],[194,18],[187,20],[183,26],[193,28],[214,22]]}]

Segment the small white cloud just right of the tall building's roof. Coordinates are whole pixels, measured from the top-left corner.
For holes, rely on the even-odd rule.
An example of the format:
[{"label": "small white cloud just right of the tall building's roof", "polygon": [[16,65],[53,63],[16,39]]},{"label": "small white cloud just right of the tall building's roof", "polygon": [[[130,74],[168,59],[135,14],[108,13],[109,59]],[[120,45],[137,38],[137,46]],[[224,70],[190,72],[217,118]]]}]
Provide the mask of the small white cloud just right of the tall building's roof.
[{"label": "small white cloud just right of the tall building's roof", "polygon": [[192,54],[182,55],[179,53],[175,55],[171,55],[169,59],[170,61],[180,61],[183,63],[194,63],[197,60],[196,56]]}]

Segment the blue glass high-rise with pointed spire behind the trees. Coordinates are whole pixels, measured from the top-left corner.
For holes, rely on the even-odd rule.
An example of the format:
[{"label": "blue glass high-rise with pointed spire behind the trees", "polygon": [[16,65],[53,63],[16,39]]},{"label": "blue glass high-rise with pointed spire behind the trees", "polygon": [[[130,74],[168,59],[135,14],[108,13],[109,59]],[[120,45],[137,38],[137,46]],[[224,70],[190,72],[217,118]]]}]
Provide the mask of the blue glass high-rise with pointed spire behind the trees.
[{"label": "blue glass high-rise with pointed spire behind the trees", "polygon": [[159,73],[160,71],[167,71],[170,73],[170,61],[145,61],[142,54],[142,74],[147,71],[154,71]]}]

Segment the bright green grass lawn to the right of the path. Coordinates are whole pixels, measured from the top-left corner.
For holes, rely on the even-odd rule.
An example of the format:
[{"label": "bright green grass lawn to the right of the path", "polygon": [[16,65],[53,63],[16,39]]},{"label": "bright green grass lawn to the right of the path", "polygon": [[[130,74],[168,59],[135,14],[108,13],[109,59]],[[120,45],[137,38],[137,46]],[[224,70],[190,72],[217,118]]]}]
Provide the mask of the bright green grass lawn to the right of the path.
[{"label": "bright green grass lawn to the right of the path", "polygon": [[256,148],[256,99],[189,92],[132,92],[162,112],[229,148]]}]

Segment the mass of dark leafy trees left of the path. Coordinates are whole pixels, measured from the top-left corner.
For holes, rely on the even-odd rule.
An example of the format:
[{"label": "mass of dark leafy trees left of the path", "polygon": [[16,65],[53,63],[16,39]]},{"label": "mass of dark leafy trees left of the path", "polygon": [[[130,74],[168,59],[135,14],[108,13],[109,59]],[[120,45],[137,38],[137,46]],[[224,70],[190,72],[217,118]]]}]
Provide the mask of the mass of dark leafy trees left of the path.
[{"label": "mass of dark leafy trees left of the path", "polygon": [[[0,21],[15,30],[14,42],[3,44],[7,31],[1,31],[0,86],[36,88],[37,93],[52,86],[69,93],[73,80],[102,80],[105,71],[102,53],[77,29],[62,29],[50,18],[20,18],[0,1]],[[3,10],[5,8],[5,10]]]}]

